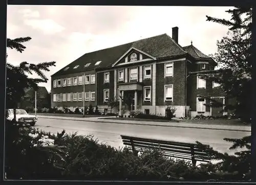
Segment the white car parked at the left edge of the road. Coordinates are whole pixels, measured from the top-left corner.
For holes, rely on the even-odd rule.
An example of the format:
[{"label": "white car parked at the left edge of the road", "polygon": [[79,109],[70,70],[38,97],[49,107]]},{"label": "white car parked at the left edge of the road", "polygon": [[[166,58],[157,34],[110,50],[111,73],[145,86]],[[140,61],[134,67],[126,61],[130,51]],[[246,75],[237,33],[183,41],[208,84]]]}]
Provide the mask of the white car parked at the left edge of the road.
[{"label": "white car parked at the left edge of the road", "polygon": [[16,120],[14,119],[13,109],[7,110],[7,116],[7,120],[15,124],[30,124],[34,126],[37,121],[35,115],[29,115],[24,109],[16,109]]}]

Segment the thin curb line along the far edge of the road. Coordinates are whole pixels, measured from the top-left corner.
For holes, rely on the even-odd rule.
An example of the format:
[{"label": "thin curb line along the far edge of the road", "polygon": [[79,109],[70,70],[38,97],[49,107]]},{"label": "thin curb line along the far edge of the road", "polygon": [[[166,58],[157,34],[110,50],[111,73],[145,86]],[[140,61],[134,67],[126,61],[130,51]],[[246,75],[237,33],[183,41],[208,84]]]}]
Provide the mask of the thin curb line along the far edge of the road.
[{"label": "thin curb line along the far edge of the road", "polygon": [[[46,118],[46,117],[41,117]],[[112,121],[96,121],[96,120],[74,120],[74,119],[62,119],[62,118],[46,118],[46,119],[60,119],[69,121],[91,121],[91,122],[101,122],[101,123],[114,123],[114,124],[131,124],[131,125],[146,125],[146,126],[163,126],[163,127],[181,127],[181,128],[198,128],[198,129],[209,129],[209,130],[226,130],[226,131],[243,131],[251,133],[249,130],[239,130],[239,129],[225,129],[225,128],[209,128],[209,127],[194,127],[194,126],[178,126],[178,125],[157,125],[157,124],[139,124],[139,123],[122,123],[122,122],[112,122]]]}]

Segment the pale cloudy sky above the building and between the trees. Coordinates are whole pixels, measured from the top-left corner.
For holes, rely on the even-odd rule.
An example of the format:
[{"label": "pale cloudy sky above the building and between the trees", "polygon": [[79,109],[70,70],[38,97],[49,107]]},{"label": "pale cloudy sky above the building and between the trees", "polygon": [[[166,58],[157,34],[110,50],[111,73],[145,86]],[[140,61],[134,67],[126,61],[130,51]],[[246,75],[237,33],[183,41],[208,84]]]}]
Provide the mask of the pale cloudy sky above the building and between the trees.
[{"label": "pale cloudy sky above the building and between the trees", "polygon": [[[50,92],[51,75],[87,52],[168,34],[179,27],[179,44],[193,45],[204,54],[217,52],[217,40],[228,31],[206,21],[206,15],[230,19],[232,7],[174,6],[7,6],[7,38],[31,37],[22,53],[7,49],[7,62],[19,65],[55,61],[40,83]],[[33,74],[32,77],[37,77]]]}]

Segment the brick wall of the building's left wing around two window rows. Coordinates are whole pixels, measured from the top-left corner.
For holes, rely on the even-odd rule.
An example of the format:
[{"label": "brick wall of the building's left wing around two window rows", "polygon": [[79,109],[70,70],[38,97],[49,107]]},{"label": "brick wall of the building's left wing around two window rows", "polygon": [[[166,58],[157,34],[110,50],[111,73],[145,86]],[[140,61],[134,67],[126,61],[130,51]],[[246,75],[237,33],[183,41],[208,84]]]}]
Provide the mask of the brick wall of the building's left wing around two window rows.
[{"label": "brick wall of the building's left wing around two window rows", "polygon": [[[82,85],[73,85],[73,77],[78,77],[78,76],[83,76],[83,74],[85,75],[91,75],[91,74],[96,74],[94,70],[91,71],[84,71],[84,72],[80,72],[80,73],[74,73],[74,74],[66,74],[66,75],[59,75],[59,76],[52,76],[51,77],[51,107],[68,107],[68,108],[76,108],[76,107],[83,107],[83,101],[73,101],[73,93],[83,93],[83,83]],[[66,86],[62,87],[62,79],[63,78],[69,78],[71,77],[71,86]],[[83,78],[83,77],[82,77]],[[61,87],[53,87],[53,81],[54,80],[58,80],[61,79]],[[68,83],[68,82],[67,82]],[[96,81],[95,84],[91,84],[91,77],[90,77],[90,84],[86,84],[84,85],[84,92],[89,92],[89,98],[90,101],[84,101],[84,106],[89,107],[90,104],[92,104],[93,106],[96,105],[96,100],[95,101],[91,101],[91,92],[95,92],[96,93]],[[62,94],[63,93],[72,93],[71,94],[71,101],[62,101]],[[60,101],[56,101],[53,102],[53,95],[54,94],[61,94],[61,100]],[[82,95],[84,96],[84,95]],[[66,96],[67,98],[67,96]],[[97,97],[95,98],[97,99]]]}]

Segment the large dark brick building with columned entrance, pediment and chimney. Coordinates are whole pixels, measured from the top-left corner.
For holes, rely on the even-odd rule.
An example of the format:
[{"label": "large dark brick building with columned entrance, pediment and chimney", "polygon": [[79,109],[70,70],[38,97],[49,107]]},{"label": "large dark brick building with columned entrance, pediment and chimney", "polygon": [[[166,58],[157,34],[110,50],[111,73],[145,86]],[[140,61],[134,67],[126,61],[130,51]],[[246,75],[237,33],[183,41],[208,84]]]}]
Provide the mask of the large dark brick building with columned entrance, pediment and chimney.
[{"label": "large dark brick building with columned entrance, pediment and chimney", "polygon": [[172,105],[177,117],[220,116],[220,108],[206,107],[209,102],[201,96],[225,102],[225,94],[197,75],[216,65],[192,43],[179,45],[175,27],[172,38],[162,34],[90,52],[60,69],[51,78],[51,106],[81,108],[84,101],[106,112],[109,98],[122,97],[126,103],[119,101],[116,111],[164,115],[166,106]]}]

